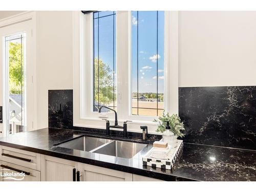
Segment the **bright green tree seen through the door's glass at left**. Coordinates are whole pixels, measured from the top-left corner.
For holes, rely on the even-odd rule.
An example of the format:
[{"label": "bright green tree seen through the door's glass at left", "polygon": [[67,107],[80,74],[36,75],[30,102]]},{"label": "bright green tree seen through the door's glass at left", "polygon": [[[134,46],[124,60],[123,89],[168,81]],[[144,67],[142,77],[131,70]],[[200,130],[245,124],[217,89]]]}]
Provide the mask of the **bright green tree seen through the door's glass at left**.
[{"label": "bright green tree seen through the door's glass at left", "polygon": [[24,58],[22,45],[18,42],[9,43],[9,87],[10,94],[22,94],[24,86]]}]

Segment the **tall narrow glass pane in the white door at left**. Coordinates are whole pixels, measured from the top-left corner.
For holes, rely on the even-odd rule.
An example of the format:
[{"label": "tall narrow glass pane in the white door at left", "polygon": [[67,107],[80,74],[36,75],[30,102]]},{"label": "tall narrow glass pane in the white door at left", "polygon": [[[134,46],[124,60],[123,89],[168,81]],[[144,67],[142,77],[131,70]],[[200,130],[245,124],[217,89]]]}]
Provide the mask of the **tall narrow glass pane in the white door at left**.
[{"label": "tall narrow glass pane in the white door at left", "polygon": [[5,37],[8,73],[8,133],[24,132],[26,126],[26,33]]}]

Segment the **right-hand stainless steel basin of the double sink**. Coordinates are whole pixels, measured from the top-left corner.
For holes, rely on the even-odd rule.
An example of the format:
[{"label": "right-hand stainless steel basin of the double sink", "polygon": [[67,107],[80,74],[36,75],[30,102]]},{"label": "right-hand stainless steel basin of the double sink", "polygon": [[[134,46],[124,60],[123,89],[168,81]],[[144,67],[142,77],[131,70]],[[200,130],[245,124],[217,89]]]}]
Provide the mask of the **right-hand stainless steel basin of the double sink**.
[{"label": "right-hand stainless steel basin of the double sink", "polygon": [[130,159],[139,153],[146,144],[132,143],[125,141],[112,141],[102,147],[99,147],[93,153],[116,156]]}]

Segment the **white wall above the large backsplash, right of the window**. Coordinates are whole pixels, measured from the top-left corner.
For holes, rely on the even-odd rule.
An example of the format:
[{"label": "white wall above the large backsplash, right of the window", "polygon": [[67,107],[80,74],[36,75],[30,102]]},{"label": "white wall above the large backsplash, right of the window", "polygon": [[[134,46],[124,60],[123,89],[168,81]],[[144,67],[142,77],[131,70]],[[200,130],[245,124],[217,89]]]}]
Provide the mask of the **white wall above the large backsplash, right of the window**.
[{"label": "white wall above the large backsplash, right of the window", "polygon": [[256,86],[256,11],[180,11],[179,87]]}]

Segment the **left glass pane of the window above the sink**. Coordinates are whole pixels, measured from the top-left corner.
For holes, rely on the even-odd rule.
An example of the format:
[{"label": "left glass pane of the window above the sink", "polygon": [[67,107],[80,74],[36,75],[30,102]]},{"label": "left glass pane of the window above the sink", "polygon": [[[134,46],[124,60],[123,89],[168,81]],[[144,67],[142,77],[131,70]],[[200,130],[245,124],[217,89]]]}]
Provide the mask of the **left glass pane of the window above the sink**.
[{"label": "left glass pane of the window above the sink", "polygon": [[94,13],[94,111],[116,108],[116,14]]}]

